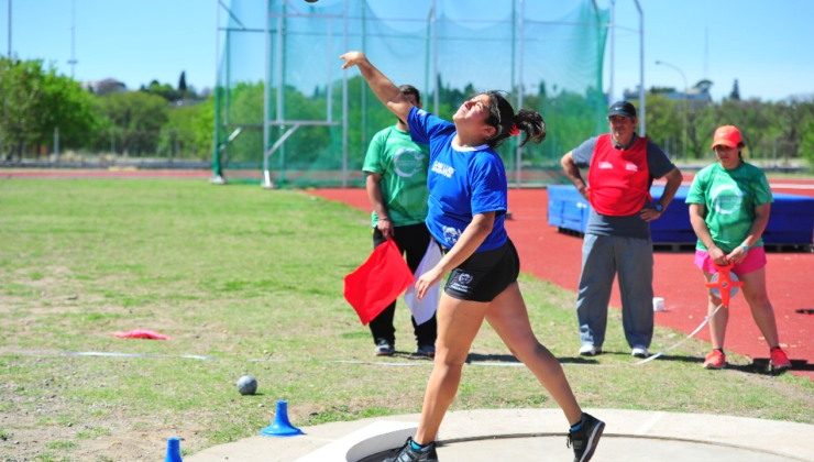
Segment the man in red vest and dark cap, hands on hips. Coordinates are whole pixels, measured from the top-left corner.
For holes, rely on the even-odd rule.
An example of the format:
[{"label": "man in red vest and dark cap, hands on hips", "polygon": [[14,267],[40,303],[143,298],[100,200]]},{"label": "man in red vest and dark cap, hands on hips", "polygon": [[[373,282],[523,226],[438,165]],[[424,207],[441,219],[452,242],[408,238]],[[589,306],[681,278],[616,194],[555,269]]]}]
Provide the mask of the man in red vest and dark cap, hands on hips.
[{"label": "man in red vest and dark cap, hands on hips", "polygon": [[[562,156],[565,175],[591,204],[582,246],[576,298],[580,354],[602,353],[614,276],[622,293],[625,338],[637,358],[649,355],[653,333],[653,251],[650,221],[657,220],[681,186],[681,172],[647,138],[636,134],[636,108],[618,101],[608,109],[610,133],[594,136]],[[587,183],[580,174],[587,167]],[[653,178],[667,186],[650,197]]]}]

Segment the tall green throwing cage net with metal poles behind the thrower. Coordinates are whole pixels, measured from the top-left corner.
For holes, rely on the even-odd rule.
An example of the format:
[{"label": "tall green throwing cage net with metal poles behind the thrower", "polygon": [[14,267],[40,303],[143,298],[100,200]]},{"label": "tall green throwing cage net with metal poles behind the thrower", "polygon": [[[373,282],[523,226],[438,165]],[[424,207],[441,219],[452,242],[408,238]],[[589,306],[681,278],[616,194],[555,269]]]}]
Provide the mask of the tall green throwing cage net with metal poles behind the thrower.
[{"label": "tall green throwing cage net with metal poles behind the thrower", "polygon": [[362,186],[367,143],[395,118],[359,70],[341,70],[351,50],[444,119],[493,89],[542,113],[542,144],[499,148],[515,186],[557,182],[560,156],[605,128],[608,12],[591,0],[218,0],[218,11],[216,178]]}]

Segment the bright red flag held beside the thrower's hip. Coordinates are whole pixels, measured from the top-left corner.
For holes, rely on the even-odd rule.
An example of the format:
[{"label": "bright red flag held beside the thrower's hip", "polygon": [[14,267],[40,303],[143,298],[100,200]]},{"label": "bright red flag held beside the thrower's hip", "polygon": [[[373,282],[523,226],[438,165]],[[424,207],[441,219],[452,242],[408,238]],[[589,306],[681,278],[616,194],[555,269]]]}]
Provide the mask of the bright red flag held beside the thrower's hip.
[{"label": "bright red flag held beside the thrower's hip", "polygon": [[366,324],[413,284],[413,273],[396,242],[376,246],[360,267],[344,277],[344,298]]}]

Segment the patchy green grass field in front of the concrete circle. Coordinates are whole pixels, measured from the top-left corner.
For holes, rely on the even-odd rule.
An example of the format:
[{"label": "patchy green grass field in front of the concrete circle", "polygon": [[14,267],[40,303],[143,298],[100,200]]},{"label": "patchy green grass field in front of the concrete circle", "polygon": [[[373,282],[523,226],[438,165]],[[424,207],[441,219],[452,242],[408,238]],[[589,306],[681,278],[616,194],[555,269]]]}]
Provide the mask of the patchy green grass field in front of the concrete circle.
[{"label": "patchy green grass field in front of the concrete circle", "polygon": [[[256,435],[279,398],[300,427],[418,413],[431,363],[408,355],[407,310],[396,319],[404,354],[377,359],[342,298],[342,277],[371,251],[367,223],[256,185],[0,180],[0,459],[158,460],[176,435],[191,453]],[[632,366],[617,312],[609,354],[574,358],[574,294],[527,275],[521,285],[583,406],[814,424],[809,378],[751,373],[737,356],[704,371],[706,345],[694,340]],[[112,336],[131,329],[172,340]],[[488,327],[471,360],[453,409],[556,406],[525,367],[494,366],[515,360]],[[238,394],[243,374],[258,395]]]}]

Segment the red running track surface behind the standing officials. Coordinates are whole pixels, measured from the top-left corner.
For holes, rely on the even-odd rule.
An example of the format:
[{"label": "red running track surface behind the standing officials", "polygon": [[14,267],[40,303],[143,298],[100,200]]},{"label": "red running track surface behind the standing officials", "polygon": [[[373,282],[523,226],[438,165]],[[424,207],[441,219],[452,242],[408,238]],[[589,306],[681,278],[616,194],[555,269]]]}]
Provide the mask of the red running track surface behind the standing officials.
[{"label": "red running track surface behind the standing officials", "polygon": [[[795,182],[796,183],[796,182]],[[814,189],[773,188],[776,191],[814,196]],[[326,199],[341,201],[352,207],[369,210],[364,189],[312,189],[308,191]],[[521,270],[565,289],[575,292],[582,254],[582,239],[563,234],[548,224],[548,195],[544,189],[512,189],[509,209],[512,220],[507,229],[520,253]],[[656,323],[690,333],[706,316],[706,290],[703,276],[693,264],[689,252],[656,252],[653,270],[654,295],[664,297],[666,311],[656,314]],[[814,316],[795,312],[814,309],[814,253],[768,253],[767,284],[783,349],[793,361],[814,364]],[[614,285],[612,307],[618,309],[618,288]],[[727,326],[726,349],[752,359],[769,356],[768,346],[751,318],[749,306],[743,296],[732,302]],[[610,323],[608,329],[620,329]],[[707,328],[696,334],[710,341]],[[576,323],[574,321],[574,350],[578,349]],[[653,344],[653,351],[669,348]],[[807,369],[807,367],[806,367]],[[814,371],[793,371],[796,375],[814,378]]]}]

